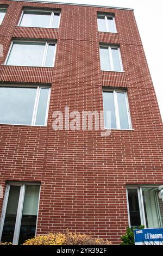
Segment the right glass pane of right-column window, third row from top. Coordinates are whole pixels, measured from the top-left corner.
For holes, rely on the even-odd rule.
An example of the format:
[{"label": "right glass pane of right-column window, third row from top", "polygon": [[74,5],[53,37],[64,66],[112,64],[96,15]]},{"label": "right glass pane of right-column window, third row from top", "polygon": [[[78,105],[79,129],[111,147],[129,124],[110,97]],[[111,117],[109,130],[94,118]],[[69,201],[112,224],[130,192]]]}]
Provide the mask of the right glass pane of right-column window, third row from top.
[{"label": "right glass pane of right-column window, third row from top", "polygon": [[129,129],[125,93],[117,93],[121,129]]}]

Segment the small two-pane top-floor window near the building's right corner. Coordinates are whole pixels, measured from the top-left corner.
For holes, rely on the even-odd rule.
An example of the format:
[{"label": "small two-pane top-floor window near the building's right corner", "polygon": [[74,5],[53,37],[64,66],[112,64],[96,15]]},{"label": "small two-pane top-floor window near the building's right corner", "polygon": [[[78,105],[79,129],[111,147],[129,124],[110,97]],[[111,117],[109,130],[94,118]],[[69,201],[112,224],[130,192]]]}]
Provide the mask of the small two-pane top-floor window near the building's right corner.
[{"label": "small two-pane top-floor window near the building's right corner", "polygon": [[97,14],[98,31],[116,33],[115,18],[112,15]]}]

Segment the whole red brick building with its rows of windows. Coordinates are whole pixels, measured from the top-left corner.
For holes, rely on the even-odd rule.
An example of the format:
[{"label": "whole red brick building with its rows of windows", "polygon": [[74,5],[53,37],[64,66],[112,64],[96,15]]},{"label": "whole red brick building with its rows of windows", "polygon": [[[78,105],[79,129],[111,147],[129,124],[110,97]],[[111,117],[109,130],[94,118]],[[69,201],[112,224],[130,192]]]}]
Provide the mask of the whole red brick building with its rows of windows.
[{"label": "whole red brick building with its rows of windows", "polygon": [[[133,10],[0,4],[1,240],[162,227],[162,123]],[[108,136],[71,123],[103,110]]]}]

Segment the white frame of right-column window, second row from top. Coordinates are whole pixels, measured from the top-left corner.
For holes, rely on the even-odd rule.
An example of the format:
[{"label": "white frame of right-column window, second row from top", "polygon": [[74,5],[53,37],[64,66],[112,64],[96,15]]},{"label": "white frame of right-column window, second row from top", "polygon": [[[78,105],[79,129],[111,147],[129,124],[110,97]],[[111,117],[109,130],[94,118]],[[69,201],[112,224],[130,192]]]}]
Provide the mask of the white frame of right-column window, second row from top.
[{"label": "white frame of right-column window, second row from top", "polygon": [[[108,69],[101,69],[102,71],[114,71],[114,72],[124,72],[123,70],[123,64],[122,64],[122,58],[121,58],[121,51],[120,51],[120,47],[119,46],[115,46],[115,45],[103,45],[103,44],[100,44],[99,45],[99,51],[100,51],[100,47],[107,47],[108,48],[108,58],[109,58],[109,61],[110,61],[110,70]],[[114,70],[114,64],[113,64],[113,58],[112,58],[112,51],[111,49],[114,48],[114,49],[117,49],[118,50],[118,57],[119,57],[119,60],[120,60],[120,66],[121,66],[121,70]]]}]

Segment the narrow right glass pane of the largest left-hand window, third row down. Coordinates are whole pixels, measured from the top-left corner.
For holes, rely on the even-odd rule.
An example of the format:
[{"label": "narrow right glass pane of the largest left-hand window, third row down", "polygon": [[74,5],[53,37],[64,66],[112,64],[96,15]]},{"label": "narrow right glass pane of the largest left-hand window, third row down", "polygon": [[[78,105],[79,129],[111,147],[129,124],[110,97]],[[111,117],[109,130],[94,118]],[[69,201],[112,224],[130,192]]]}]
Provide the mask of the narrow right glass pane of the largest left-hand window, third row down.
[{"label": "narrow right glass pane of the largest left-hand window, third row down", "polygon": [[37,117],[36,117],[36,125],[45,125],[45,117],[46,117],[46,109],[47,109],[47,101],[49,88],[41,88],[40,89],[40,98],[39,105],[37,109]]}]

